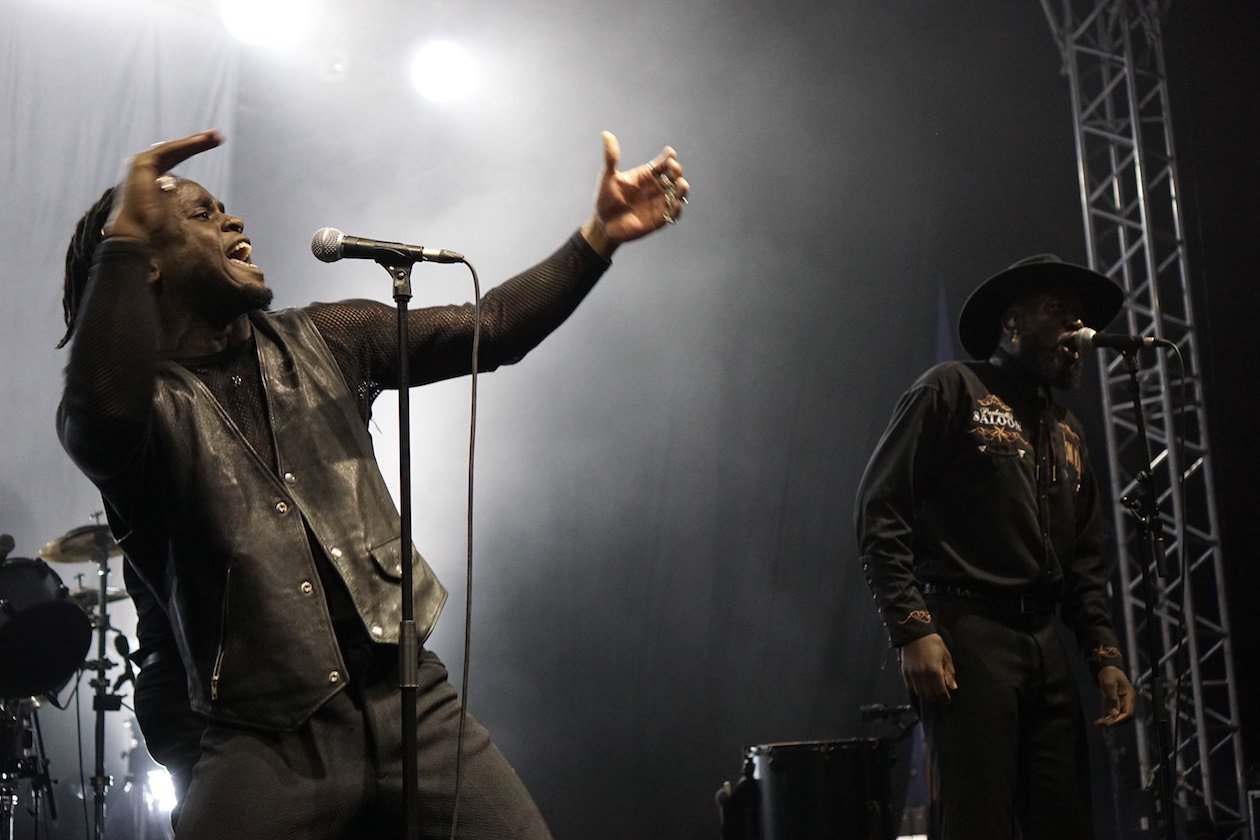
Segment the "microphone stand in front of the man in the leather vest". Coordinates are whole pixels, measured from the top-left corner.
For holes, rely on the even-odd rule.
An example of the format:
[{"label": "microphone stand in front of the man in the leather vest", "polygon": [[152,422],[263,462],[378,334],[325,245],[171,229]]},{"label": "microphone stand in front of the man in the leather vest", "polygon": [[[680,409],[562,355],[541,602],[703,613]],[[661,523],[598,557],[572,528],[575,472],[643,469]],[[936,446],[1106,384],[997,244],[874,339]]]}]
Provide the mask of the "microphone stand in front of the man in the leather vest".
[{"label": "microphone stand in front of the man in the leather vest", "polygon": [[411,557],[411,378],[407,370],[407,304],[415,261],[399,257],[377,263],[393,278],[398,312],[398,518],[402,555],[402,621],[398,623],[398,686],[402,690],[403,837],[420,836],[420,791],[416,772],[416,694],[420,689],[420,644],[416,636],[415,576]]}]

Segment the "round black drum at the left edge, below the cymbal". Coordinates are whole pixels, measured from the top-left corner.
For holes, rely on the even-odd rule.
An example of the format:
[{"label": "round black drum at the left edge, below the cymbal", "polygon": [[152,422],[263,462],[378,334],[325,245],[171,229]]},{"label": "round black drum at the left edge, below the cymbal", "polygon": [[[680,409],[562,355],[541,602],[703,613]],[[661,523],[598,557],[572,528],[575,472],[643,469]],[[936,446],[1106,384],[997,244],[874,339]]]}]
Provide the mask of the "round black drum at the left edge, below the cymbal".
[{"label": "round black drum at the left edge, below the cymbal", "polygon": [[43,560],[0,564],[0,698],[55,691],[83,665],[92,620]]}]

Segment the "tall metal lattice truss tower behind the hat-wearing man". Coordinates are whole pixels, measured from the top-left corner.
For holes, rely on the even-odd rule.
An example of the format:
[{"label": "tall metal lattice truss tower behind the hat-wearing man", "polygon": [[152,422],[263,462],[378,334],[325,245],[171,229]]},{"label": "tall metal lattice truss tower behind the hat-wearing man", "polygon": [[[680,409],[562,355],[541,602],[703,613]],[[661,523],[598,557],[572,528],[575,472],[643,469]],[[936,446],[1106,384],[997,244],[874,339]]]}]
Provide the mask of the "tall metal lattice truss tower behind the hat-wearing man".
[{"label": "tall metal lattice truss tower behind the hat-wearing man", "polygon": [[[1206,809],[1217,837],[1251,840],[1244,783],[1234,651],[1212,489],[1200,336],[1191,306],[1159,0],[1041,0],[1071,86],[1076,157],[1090,266],[1126,292],[1120,327],[1168,339],[1143,351],[1143,418],[1133,408],[1128,365],[1104,358],[1102,408],[1119,549],[1126,654],[1139,693],[1135,756],[1143,791],[1158,790],[1167,756],[1155,737],[1153,688],[1162,689],[1178,810]],[[1150,359],[1145,359],[1150,354]],[[1150,462],[1139,434],[1144,419]],[[1123,500],[1158,494],[1168,577],[1143,568],[1134,516]],[[1149,588],[1143,573],[1149,576]],[[1148,633],[1155,654],[1148,655]],[[1154,659],[1155,661],[1152,661]],[[1159,683],[1155,684],[1154,681]],[[1125,761],[1125,764],[1131,762]],[[1128,767],[1118,768],[1124,773]],[[1124,787],[1123,780],[1118,788]],[[1130,787],[1133,785],[1130,783]],[[1128,791],[1134,795],[1134,791]],[[1126,791],[1118,790],[1118,801]],[[1139,797],[1140,798],[1140,797]],[[1123,819],[1119,816],[1118,819]],[[1119,825],[1131,836],[1138,825]]]}]

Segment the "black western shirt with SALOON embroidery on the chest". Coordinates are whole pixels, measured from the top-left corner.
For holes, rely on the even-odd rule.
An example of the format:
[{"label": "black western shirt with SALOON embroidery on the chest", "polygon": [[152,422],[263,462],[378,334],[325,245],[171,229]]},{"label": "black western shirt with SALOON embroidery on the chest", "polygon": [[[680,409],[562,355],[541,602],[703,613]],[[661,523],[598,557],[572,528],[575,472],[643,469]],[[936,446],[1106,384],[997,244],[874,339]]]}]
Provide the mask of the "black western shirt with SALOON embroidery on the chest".
[{"label": "black western shirt with SALOON embroidery on the chest", "polygon": [[895,646],[936,632],[925,586],[1060,604],[1094,670],[1123,667],[1080,422],[999,350],[902,394],[858,490],[867,583]]}]

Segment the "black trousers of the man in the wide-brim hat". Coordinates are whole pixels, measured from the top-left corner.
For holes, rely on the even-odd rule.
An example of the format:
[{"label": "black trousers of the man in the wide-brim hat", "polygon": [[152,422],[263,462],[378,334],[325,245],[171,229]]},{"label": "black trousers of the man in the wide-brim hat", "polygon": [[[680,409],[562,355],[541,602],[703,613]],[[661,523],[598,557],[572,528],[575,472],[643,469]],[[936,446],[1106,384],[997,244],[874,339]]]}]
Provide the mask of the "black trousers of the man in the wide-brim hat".
[{"label": "black trousers of the man in the wide-brim hat", "polygon": [[1084,715],[1056,620],[963,598],[930,606],[958,676],[950,703],[920,709],[931,839],[1094,837]]}]

